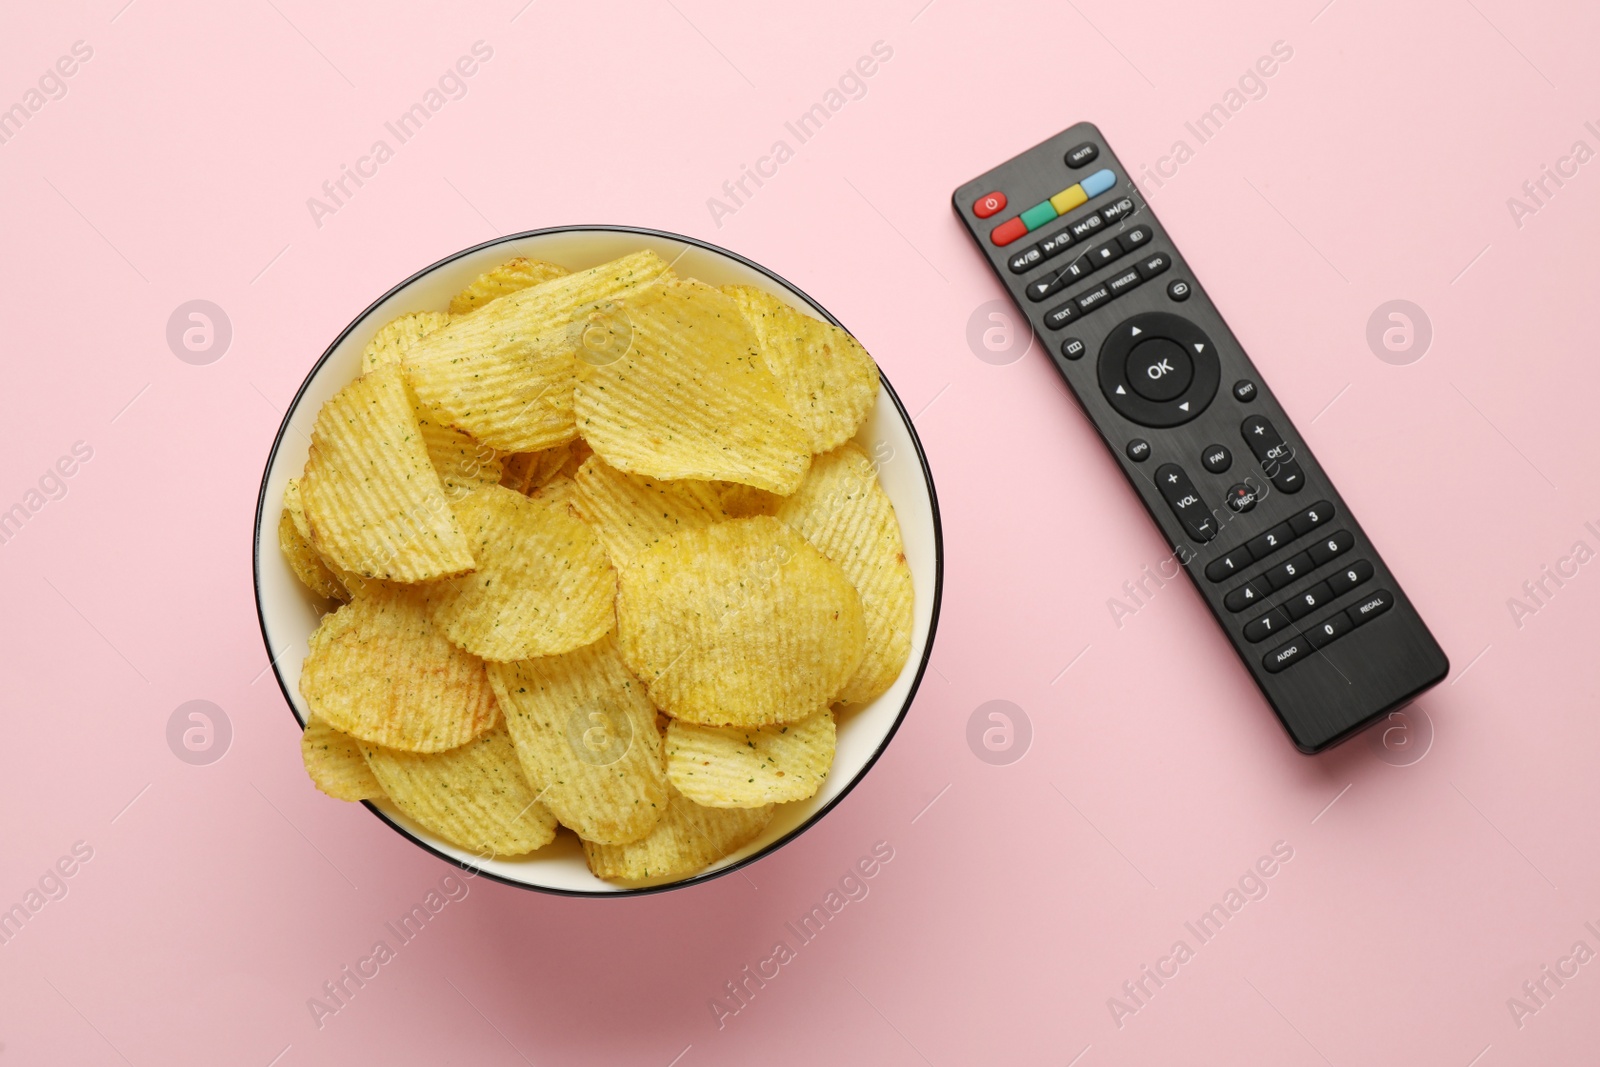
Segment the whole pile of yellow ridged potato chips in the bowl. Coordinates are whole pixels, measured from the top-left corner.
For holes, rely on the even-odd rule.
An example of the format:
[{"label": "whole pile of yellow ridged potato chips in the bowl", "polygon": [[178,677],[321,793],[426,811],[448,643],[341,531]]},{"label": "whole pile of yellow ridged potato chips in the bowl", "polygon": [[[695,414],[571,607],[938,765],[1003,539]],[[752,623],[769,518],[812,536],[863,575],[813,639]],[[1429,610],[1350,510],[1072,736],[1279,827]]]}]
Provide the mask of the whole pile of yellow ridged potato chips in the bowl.
[{"label": "whole pile of yellow ridged potato chips in the bowl", "polygon": [[382,326],[278,542],[318,597],[306,769],[438,837],[682,878],[813,797],[910,651],[843,330],[640,251],[514,259]]}]

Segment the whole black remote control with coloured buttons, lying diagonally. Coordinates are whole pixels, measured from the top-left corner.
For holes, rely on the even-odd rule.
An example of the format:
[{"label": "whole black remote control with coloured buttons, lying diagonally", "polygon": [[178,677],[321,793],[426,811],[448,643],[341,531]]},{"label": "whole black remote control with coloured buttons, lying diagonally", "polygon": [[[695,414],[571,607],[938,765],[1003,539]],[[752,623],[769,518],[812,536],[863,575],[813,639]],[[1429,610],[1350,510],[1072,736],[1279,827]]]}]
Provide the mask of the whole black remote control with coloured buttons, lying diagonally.
[{"label": "whole black remote control with coloured buttons, lying diagonally", "polygon": [[952,198],[1301,752],[1450,661],[1101,131]]}]

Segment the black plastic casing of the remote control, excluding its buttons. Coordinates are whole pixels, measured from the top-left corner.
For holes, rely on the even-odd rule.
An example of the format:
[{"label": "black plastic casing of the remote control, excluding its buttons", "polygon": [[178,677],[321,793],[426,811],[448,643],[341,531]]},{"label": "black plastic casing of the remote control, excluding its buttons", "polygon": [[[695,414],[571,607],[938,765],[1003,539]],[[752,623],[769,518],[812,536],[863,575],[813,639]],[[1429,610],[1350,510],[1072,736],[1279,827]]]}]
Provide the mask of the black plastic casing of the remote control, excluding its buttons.
[{"label": "black plastic casing of the remote control, excluding its buttons", "polygon": [[[1080,166],[1078,170],[1069,168],[1064,162],[1067,150],[1085,144],[1096,146],[1098,157],[1091,165]],[[1030,232],[1027,237],[1010,245],[998,246],[990,240],[990,230],[997,224],[1016,218],[1019,211],[1053,197],[1058,190],[1101,168],[1110,168],[1115,176],[1115,184],[1109,192],[1091,197],[1086,203],[1066,211],[1054,224],[1042,226],[1037,232]],[[979,218],[974,205],[990,192],[1005,194],[1008,203],[1002,211],[989,218]],[[1013,254],[1038,238],[1051,235],[1074,219],[1093,214],[1093,210],[1122,197],[1133,200],[1134,210],[1131,213],[1101,227],[1091,238],[1082,240],[1077,246],[1067,250],[1066,254],[1035,264],[1022,274],[1011,272],[1008,264]],[[1134,186],[1131,174],[1117,160],[1106,138],[1101,136],[1101,131],[1094,125],[1078,123],[1070,126],[986,174],[965,182],[955,190],[952,206],[962,222],[966,224],[973,242],[989,258],[990,267],[994,267],[1011,299],[1034,328],[1038,341],[1043,342],[1045,352],[1050,354],[1056,370],[1066,379],[1078,406],[1106,440],[1106,446],[1122,466],[1122,472],[1139,494],[1150,518],[1155,520],[1166,541],[1174,545],[1179,558],[1186,560],[1184,569],[1301,752],[1320,752],[1350,737],[1378,718],[1403,707],[1419,693],[1437,685],[1450,672],[1450,661],[1445,657],[1443,649],[1440,649],[1398,581],[1389,571],[1382,557],[1378,555],[1378,549],[1350,514],[1344,498],[1306,446],[1288,413],[1278,405],[1261,373],[1206,296],[1205,288],[1195,278],[1182,251],[1174,246],[1165,227],[1146,203],[1144,195]],[[1085,312],[1064,328],[1046,328],[1045,314],[1050,309],[1115,277],[1136,256],[1130,254],[1117,264],[1102,266],[1040,302],[1027,299],[1026,286],[1066,266],[1080,254],[1080,250],[1104,243],[1128,227],[1139,224],[1149,226],[1154,232],[1152,238],[1142,245],[1139,256],[1170,253],[1171,267],[1165,274],[1110,299],[1107,304]],[[1168,286],[1176,280],[1187,282],[1190,288],[1190,294],[1182,302],[1174,301],[1168,294]],[[1216,357],[1221,363],[1221,379],[1216,394],[1195,418],[1181,426],[1168,429],[1141,426],[1120,414],[1101,387],[1098,370],[1101,347],[1120,323],[1131,315],[1146,312],[1165,312],[1189,320],[1216,347]],[[1085,352],[1080,358],[1069,360],[1062,355],[1061,344],[1066,338],[1083,341]],[[1238,381],[1256,384],[1254,398],[1250,402],[1235,400],[1232,389]],[[1256,456],[1242,437],[1242,424],[1250,416],[1266,418],[1293,450],[1293,459],[1304,470],[1304,485],[1299,491],[1290,494],[1272,486],[1267,470],[1256,461]],[[1150,445],[1147,458],[1142,462],[1130,459],[1125,453],[1125,446],[1134,438],[1144,438]],[[1210,445],[1224,445],[1234,453],[1230,469],[1222,474],[1210,474],[1202,466],[1202,453]],[[1203,501],[1211,506],[1221,528],[1213,539],[1197,541],[1155,486],[1155,470],[1168,462],[1181,466]],[[1224,502],[1224,496],[1229,486],[1235,483],[1248,483],[1264,490],[1254,509],[1243,514],[1230,512]],[[1333,504],[1333,520],[1318,526],[1312,534],[1296,539],[1285,552],[1245,568],[1237,577],[1213,582],[1205,576],[1206,565],[1218,557],[1277,526],[1291,515],[1302,512],[1307,506],[1322,501]],[[1339,530],[1347,530],[1354,534],[1355,544],[1349,552],[1317,566],[1293,584],[1275,590],[1269,598],[1261,600],[1246,611],[1230,611],[1224,605],[1227,592],[1240,582],[1253,579],[1262,571],[1274,569],[1275,565],[1306,549],[1309,542]],[[1338,571],[1339,566],[1357,560],[1368,560],[1373,565],[1373,577],[1362,582],[1357,589],[1344,592],[1336,600],[1326,601],[1322,609],[1296,621],[1293,625],[1307,627],[1318,624],[1330,613],[1350,608],[1362,597],[1374,590],[1390,592],[1394,595],[1392,608],[1357,625],[1326,646],[1310,651],[1302,661],[1293,662],[1278,672],[1269,672],[1262,662],[1264,656],[1278,648],[1293,632],[1256,643],[1245,638],[1245,624],[1259,616],[1262,609],[1270,609],[1294,598],[1304,589],[1315,585],[1320,579],[1328,577],[1330,573]]]}]

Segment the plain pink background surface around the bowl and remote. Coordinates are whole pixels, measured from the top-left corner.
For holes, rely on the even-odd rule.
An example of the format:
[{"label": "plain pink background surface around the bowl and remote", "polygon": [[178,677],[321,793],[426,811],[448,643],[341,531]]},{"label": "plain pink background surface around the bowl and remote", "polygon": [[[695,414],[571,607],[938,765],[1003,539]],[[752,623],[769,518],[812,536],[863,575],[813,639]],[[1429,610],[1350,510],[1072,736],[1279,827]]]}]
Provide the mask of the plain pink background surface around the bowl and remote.
[{"label": "plain pink background surface around the bowl and remote", "polygon": [[[1507,1008],[1574,942],[1600,950],[1600,566],[1522,627],[1507,608],[1574,541],[1600,549],[1582,525],[1600,163],[1520,227],[1507,210],[1573,141],[1600,149],[1600,16],[122,3],[35,6],[0,35],[0,106],[93,48],[0,144],[0,509],[93,448],[0,544],[0,905],[93,848],[0,945],[0,1064],[1466,1067],[1600,1048],[1600,963],[1520,1027]],[[477,40],[493,59],[466,98],[314,224],[306,198]],[[866,96],[718,227],[707,197],[880,40]],[[1389,749],[1318,758],[1187,585],[1115,625],[1107,600],[1163,545],[1046,362],[968,347],[1002,293],[949,210],[1080,118],[1154,165],[1278,40],[1293,59],[1267,94],[1152,202],[1454,664]],[[307,998],[450,869],[299,768],[253,608],[261,467],[373,298],[563,222],[725,245],[877,355],[944,506],[933,669],[867,781],[747,877],[629,901],[474,881],[318,1029]],[[206,366],[165,339],[190,299],[234,328]],[[1406,366],[1365,339],[1390,299],[1434,326]],[[192,699],[232,725],[206,766],[166,742]],[[1032,723],[1005,766],[966,744],[994,699]],[[710,998],[875,841],[894,859],[870,894],[718,1029]],[[1293,859],[1266,899],[1118,1027],[1107,1000],[1275,841]]]}]

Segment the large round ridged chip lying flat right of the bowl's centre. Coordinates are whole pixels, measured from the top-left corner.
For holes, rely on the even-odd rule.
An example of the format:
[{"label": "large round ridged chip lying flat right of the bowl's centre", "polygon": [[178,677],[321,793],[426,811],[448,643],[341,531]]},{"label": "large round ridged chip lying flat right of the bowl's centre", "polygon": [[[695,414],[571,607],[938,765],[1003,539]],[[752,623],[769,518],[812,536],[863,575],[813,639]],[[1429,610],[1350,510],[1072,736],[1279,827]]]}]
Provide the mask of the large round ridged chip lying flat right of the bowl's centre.
[{"label": "large round ridged chip lying flat right of the bowl's centre", "polygon": [[866,651],[837,563],[770,518],[682,530],[621,565],[618,645],[656,707],[706,726],[811,715]]}]

